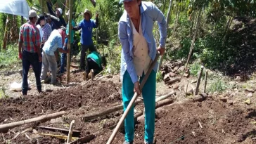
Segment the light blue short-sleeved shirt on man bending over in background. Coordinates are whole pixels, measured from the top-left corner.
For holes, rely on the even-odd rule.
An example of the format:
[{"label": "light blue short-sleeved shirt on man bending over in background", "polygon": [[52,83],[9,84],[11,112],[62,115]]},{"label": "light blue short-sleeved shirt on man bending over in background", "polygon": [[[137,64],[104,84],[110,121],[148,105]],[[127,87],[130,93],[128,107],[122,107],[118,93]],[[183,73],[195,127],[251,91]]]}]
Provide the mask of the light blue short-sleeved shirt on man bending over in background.
[{"label": "light blue short-sleeved shirt on man bending over in background", "polygon": [[63,47],[63,38],[60,35],[60,32],[58,30],[53,30],[51,32],[51,35],[49,39],[44,44],[44,52],[48,55],[54,55],[54,51],[56,51],[57,48]]}]

